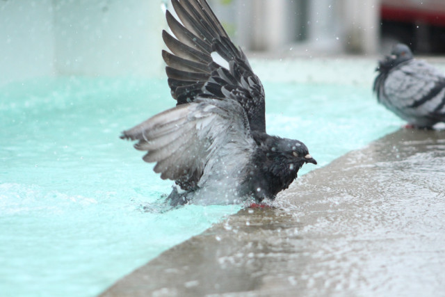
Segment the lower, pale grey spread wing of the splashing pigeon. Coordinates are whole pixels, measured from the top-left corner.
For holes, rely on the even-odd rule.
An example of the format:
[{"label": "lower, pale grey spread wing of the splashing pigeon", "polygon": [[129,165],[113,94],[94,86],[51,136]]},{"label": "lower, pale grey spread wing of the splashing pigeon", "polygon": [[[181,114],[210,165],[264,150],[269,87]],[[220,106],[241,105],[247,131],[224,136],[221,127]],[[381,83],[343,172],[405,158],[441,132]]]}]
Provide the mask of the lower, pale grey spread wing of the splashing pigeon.
[{"label": "lower, pale grey spread wing of the splashing pigeon", "polygon": [[147,151],[146,162],[154,171],[172,179],[184,190],[214,179],[238,175],[247,167],[254,141],[245,112],[238,102],[197,98],[122,132],[121,138],[137,140],[137,150]]}]

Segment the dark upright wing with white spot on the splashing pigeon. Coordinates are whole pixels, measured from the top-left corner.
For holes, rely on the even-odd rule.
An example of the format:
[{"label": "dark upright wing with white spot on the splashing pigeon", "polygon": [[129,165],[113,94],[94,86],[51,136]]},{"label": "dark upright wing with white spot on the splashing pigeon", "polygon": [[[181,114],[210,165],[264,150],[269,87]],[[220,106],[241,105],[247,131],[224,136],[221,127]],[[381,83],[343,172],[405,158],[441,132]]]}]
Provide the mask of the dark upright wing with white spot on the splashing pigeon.
[{"label": "dark upright wing with white spot on the splashing pigeon", "polygon": [[[172,0],[172,5],[181,22],[167,11],[168,26],[176,38],[163,31],[163,40],[172,54],[163,51],[162,56],[177,104],[193,102],[197,96],[234,99],[243,106],[252,131],[266,132],[261,81],[207,1]],[[223,58],[223,65],[215,61],[218,56]]]}]

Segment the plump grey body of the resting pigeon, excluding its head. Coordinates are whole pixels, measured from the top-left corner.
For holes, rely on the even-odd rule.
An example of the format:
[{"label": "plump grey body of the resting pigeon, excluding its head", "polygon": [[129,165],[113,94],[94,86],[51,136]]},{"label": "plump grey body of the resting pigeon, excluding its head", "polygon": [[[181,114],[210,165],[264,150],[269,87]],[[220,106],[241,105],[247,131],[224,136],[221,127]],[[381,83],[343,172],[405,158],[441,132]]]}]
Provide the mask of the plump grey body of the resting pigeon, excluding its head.
[{"label": "plump grey body of the resting pigeon, excluding its head", "polygon": [[378,97],[395,112],[444,120],[445,77],[424,61],[411,60],[394,67],[380,83]]}]

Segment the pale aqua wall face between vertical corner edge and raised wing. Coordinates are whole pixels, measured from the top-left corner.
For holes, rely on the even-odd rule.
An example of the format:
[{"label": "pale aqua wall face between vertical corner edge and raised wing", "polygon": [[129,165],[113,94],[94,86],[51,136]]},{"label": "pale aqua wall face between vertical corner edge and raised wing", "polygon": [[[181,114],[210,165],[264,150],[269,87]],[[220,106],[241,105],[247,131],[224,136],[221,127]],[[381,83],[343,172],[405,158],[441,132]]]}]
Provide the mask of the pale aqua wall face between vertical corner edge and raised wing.
[{"label": "pale aqua wall face between vertical corner edge and raised wing", "polygon": [[153,76],[163,61],[161,1],[54,1],[58,74]]}]

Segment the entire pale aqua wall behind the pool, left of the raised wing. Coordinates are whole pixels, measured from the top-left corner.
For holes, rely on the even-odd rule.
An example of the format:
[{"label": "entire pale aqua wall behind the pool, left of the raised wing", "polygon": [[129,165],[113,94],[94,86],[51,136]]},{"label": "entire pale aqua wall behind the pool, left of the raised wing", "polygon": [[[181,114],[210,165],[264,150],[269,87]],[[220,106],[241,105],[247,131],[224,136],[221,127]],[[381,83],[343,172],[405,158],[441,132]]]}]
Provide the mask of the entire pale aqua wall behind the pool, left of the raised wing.
[{"label": "entire pale aqua wall behind the pool, left of the raised wing", "polygon": [[158,77],[159,0],[0,1],[0,86],[58,75]]}]

